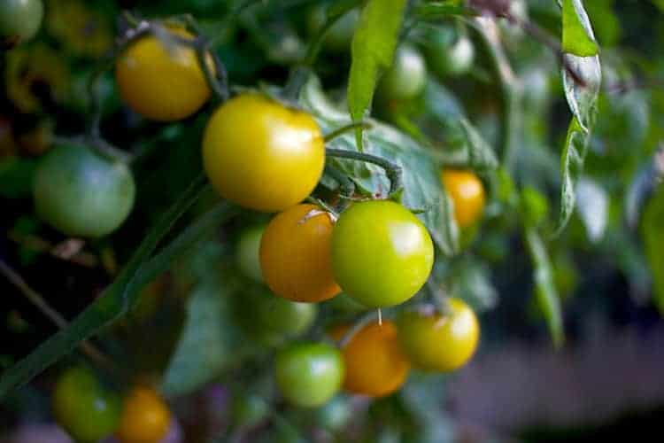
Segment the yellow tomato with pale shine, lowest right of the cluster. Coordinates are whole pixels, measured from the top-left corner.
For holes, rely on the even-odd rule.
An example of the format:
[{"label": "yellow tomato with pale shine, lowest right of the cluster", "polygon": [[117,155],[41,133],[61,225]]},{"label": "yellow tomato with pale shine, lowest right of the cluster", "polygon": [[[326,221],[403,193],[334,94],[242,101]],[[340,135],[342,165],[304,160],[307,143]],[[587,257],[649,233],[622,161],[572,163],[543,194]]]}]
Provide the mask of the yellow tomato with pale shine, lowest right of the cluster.
[{"label": "yellow tomato with pale shine, lowest right of the cluster", "polygon": [[475,312],[460,299],[449,299],[449,306],[449,315],[428,307],[399,317],[399,340],[413,366],[450,372],[475,354],[480,336]]}]

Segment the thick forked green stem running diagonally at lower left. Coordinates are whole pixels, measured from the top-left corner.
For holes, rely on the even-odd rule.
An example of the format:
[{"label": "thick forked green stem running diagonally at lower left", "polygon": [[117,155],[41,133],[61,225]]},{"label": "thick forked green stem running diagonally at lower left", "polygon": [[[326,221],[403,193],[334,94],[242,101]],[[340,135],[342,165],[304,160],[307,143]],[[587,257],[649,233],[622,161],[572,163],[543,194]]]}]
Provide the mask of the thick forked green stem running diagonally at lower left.
[{"label": "thick forked green stem running diagonally at lower left", "polygon": [[202,220],[205,220],[205,223],[197,223],[197,229],[185,229],[181,237],[176,237],[162,253],[148,261],[159,241],[173,228],[174,222],[180,219],[206,190],[209,189],[205,187],[205,177],[201,175],[181,193],[180,198],[160,218],[143,243],[138,246],[118,278],[102,292],[99,298],[86,307],[64,330],[48,338],[26,358],[3,373],[0,378],[0,399],[73,351],[81,340],[91,337],[104,326],[127,314],[131,307],[135,306],[145,284],[165,271],[175,256],[191,247],[197,235],[207,232],[212,221],[219,222],[231,214],[230,206],[220,204],[209,213],[215,215],[214,217],[204,215]]}]

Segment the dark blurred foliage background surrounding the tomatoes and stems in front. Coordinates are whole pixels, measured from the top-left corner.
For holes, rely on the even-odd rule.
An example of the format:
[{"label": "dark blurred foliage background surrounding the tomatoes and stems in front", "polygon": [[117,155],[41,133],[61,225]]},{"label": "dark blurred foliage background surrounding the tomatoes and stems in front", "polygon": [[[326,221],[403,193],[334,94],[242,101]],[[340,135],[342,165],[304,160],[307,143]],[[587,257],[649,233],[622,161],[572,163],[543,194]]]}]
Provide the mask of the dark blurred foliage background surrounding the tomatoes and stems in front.
[{"label": "dark blurred foliage background surrounding the tomatoes and stems in front", "polygon": [[[221,26],[235,2],[43,4],[38,34],[5,49],[0,58],[0,260],[9,269],[0,276],[3,370],[57,330],[24,297],[26,286],[72,319],[112,283],[158,215],[201,170],[200,134],[211,109],[168,125],[144,120],[122,105],[109,70],[98,88],[101,129],[112,144],[141,155],[132,164],[133,212],[111,236],[89,241],[67,238],[35,214],[35,166],[58,137],[85,130],[87,82],[127,29],[121,12],[150,19],[193,14],[204,33],[220,42],[215,51],[231,85],[253,87],[286,82],[324,23],[321,8],[327,5],[266,1]],[[251,300],[244,307],[264,302],[260,284],[247,275],[237,254],[249,235],[246,227],[263,226],[269,218],[243,213],[174,263],[143,291],[130,315],[95,339],[135,377],[160,383],[175,417],[164,441],[227,441],[228,430],[238,429],[237,441],[657,440],[664,419],[664,218],[659,209],[664,195],[657,161],[664,137],[664,2],[587,0],[584,5],[601,48],[598,118],[575,214],[559,237],[545,239],[562,303],[565,346],[552,346],[533,297],[533,266],[520,236],[519,210],[506,206],[489,186],[483,221],[462,232],[462,253],[436,264],[445,287],[479,315],[482,338],[473,360],[449,375],[413,371],[404,388],[378,400],[341,394],[323,408],[304,411],[273,402],[274,383],[266,368],[274,347],[286,338],[257,331],[255,316],[233,301],[243,294]],[[556,2],[513,0],[509,8],[521,22],[560,38]],[[314,65],[323,89],[341,109],[358,17],[354,11],[337,22]],[[483,37],[471,22],[407,22],[411,28],[402,46],[425,60],[426,87],[404,101],[379,86],[373,115],[413,136],[426,136],[440,152],[457,143],[458,128],[450,121],[461,117],[487,144],[498,146],[501,89]],[[570,116],[560,64],[552,48],[522,26],[507,19],[497,24],[523,92],[510,182],[537,192],[544,225],[552,228]],[[459,47],[462,39],[465,48]],[[214,199],[203,198],[182,224]],[[361,308],[333,299],[318,310],[327,325],[355,318]],[[215,314],[205,315],[209,312]],[[0,441],[72,441],[54,424],[50,392],[59,371],[81,361],[86,357],[73,353],[3,400]],[[270,418],[271,409],[279,419]]]}]

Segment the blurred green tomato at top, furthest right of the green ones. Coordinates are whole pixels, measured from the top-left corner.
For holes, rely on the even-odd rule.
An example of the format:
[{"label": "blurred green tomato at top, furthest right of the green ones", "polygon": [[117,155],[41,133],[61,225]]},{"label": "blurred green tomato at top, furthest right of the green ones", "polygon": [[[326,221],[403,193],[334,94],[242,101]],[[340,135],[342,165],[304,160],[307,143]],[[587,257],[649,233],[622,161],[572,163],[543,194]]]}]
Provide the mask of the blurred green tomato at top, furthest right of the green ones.
[{"label": "blurred green tomato at top, furthest right of the green ones", "polygon": [[429,65],[441,77],[466,74],[475,60],[475,47],[467,35],[436,30],[429,35]]}]

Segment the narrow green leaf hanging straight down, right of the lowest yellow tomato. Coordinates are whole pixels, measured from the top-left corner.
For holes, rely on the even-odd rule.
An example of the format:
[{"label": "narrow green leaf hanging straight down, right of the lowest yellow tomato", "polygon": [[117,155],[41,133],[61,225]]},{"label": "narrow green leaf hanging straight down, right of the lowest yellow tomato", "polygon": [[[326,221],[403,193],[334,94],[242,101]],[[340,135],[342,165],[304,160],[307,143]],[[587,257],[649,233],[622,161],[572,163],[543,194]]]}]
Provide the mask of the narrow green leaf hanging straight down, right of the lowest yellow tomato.
[{"label": "narrow green leaf hanging straight down, right of the lowest yellow tomato", "polygon": [[565,337],[562,327],[562,313],[560,311],[560,297],[553,282],[553,268],[549,254],[546,252],[542,238],[537,234],[537,230],[532,227],[526,227],[525,230],[526,245],[530,253],[530,259],[533,262],[535,294],[537,304],[544,315],[546,324],[551,334],[553,345],[562,346]]}]

